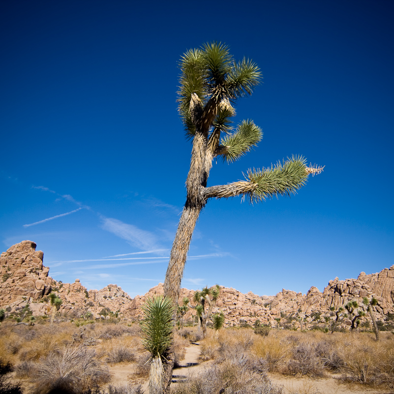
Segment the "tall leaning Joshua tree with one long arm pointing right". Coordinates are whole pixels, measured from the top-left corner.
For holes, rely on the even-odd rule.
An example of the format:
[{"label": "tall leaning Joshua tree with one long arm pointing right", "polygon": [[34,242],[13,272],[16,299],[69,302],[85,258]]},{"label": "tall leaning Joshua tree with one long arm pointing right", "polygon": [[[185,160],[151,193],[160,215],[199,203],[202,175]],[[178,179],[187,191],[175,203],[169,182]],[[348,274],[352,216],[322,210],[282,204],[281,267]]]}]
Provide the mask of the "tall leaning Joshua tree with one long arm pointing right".
[{"label": "tall leaning Joshua tree with one long arm pointing right", "polygon": [[250,95],[260,83],[258,66],[245,58],[234,61],[229,48],[218,43],[191,49],[181,58],[179,112],[186,137],[193,140],[190,170],[186,179],[186,203],[171,249],[164,281],[164,294],[178,303],[183,269],[198,216],[210,198],[247,197],[259,202],[277,195],[291,195],[309,174],[321,167],[307,167],[301,156],[292,156],[269,168],[248,170],[243,181],[207,187],[212,160],[232,163],[262,139],[262,131],[251,120],[233,129],[233,105]]}]

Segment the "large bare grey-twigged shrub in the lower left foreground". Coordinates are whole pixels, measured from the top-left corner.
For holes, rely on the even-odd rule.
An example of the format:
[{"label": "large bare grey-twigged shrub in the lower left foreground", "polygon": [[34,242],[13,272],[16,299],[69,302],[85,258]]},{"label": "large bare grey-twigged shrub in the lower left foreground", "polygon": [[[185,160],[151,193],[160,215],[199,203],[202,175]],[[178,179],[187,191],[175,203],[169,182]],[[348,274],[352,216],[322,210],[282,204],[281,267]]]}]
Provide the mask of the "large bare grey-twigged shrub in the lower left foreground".
[{"label": "large bare grey-twigged shrub in the lower left foreground", "polygon": [[94,353],[88,352],[84,346],[67,345],[57,348],[37,363],[33,393],[63,391],[79,394],[90,387],[108,382],[108,370],[100,367],[93,356]]}]

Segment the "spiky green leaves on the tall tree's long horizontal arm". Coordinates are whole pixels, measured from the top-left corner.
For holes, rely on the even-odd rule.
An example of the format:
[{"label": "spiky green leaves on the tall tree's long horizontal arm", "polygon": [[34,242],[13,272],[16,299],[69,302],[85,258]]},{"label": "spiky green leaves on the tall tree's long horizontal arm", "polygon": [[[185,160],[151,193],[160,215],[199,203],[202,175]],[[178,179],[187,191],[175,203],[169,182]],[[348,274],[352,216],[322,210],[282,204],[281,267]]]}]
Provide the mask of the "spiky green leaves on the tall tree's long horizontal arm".
[{"label": "spiky green leaves on the tall tree's long horizontal arm", "polygon": [[292,156],[284,163],[278,162],[271,168],[249,170],[247,180],[254,184],[249,192],[251,201],[264,201],[277,195],[290,196],[300,189],[308,178],[305,172],[306,160],[302,156]]}]

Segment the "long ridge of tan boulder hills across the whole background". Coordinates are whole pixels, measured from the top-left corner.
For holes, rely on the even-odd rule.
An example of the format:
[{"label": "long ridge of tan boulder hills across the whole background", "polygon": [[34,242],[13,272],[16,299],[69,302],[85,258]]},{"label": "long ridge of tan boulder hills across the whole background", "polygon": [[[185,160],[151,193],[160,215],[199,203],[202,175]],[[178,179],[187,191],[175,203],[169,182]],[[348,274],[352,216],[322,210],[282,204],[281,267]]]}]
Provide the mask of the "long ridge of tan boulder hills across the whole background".
[{"label": "long ridge of tan boulder hills across the whole background", "polygon": [[[144,296],[134,299],[115,284],[98,291],[88,291],[79,279],[71,284],[61,283],[48,276],[49,268],[42,263],[43,252],[35,248],[34,242],[23,241],[1,253],[0,307],[10,313],[29,303],[33,316],[49,315],[51,307],[46,296],[56,292],[63,301],[61,312],[70,317],[91,314],[97,318],[117,314],[123,319],[136,320],[142,318],[141,305],[145,298],[163,293],[161,283]],[[183,297],[192,300],[194,293],[194,290],[182,289],[180,301]],[[226,326],[254,324],[259,320],[272,327],[276,327],[278,322],[288,328],[307,328],[315,324],[323,327],[335,317],[330,307],[338,308],[349,301],[362,304],[363,297],[375,297],[378,300],[378,320],[386,322],[391,319],[394,316],[394,266],[380,273],[362,272],[357,279],[339,280],[336,277],[330,280],[323,293],[312,286],[306,295],[283,289],[275,296],[260,297],[251,292],[242,294],[233,288],[220,286],[220,295],[213,312],[224,313]],[[194,309],[190,309],[185,318],[193,314]],[[344,319],[341,325],[349,326],[350,320]]]}]

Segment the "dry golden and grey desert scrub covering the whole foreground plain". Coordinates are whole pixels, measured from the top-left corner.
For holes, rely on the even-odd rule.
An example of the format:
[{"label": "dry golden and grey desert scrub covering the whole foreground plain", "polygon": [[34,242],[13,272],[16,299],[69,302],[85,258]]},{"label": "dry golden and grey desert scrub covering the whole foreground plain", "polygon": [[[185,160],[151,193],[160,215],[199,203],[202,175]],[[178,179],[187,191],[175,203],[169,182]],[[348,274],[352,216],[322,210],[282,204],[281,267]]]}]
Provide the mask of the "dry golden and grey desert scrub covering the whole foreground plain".
[{"label": "dry golden and grey desert scrub covering the whole foreground plain", "polygon": [[[75,394],[147,392],[150,354],[142,345],[138,322],[40,322],[25,326],[5,319],[1,323],[1,365],[8,365],[8,387],[26,394],[47,394],[51,390]],[[261,335],[256,328],[238,327],[217,332],[208,328],[203,339],[201,330],[186,325],[176,330],[176,363],[182,361],[190,343],[198,342],[201,368],[172,384],[171,393],[287,394],[272,383],[273,376],[312,380],[335,376],[338,384],[350,384],[359,392],[363,387],[380,392],[393,390],[394,335],[380,334],[380,341],[376,341],[372,332],[272,329]],[[119,381],[117,368],[127,371],[126,380]],[[319,393],[307,388],[303,391]]]}]

